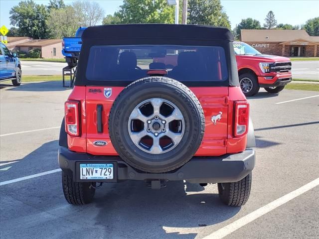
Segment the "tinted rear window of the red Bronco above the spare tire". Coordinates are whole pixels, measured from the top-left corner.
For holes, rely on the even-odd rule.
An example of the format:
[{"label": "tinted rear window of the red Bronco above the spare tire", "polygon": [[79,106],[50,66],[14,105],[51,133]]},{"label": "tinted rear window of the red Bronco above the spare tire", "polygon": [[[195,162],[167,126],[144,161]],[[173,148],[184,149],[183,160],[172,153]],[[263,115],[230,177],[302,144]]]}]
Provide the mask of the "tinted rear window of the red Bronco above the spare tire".
[{"label": "tinted rear window of the red Bronco above the spare tire", "polygon": [[167,70],[181,82],[228,80],[223,47],[178,45],[92,46],[86,69],[89,81],[135,81],[150,69]]}]

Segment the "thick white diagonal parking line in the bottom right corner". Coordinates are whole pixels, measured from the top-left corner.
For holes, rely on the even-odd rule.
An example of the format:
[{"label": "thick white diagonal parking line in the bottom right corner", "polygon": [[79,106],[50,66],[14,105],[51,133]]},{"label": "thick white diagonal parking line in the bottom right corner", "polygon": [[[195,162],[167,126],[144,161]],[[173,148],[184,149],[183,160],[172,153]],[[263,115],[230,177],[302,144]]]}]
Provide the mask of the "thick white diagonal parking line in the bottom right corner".
[{"label": "thick white diagonal parking line in the bottom right corner", "polygon": [[319,178],[315,179],[314,181],[296,189],[295,191],[292,191],[285,196],[282,196],[279,199],[276,199],[275,201],[257,209],[256,211],[236,220],[235,222],[228,224],[227,226],[217,230],[216,232],[206,236],[203,239],[222,239],[226,237],[227,235],[235,232],[236,230],[240,229],[241,227],[251,223],[252,221],[260,218],[261,216],[265,215],[266,213],[269,213],[270,211],[280,207],[281,205],[289,202],[290,200],[302,195],[303,193],[306,193],[307,191],[313,189],[314,187],[319,185]]}]

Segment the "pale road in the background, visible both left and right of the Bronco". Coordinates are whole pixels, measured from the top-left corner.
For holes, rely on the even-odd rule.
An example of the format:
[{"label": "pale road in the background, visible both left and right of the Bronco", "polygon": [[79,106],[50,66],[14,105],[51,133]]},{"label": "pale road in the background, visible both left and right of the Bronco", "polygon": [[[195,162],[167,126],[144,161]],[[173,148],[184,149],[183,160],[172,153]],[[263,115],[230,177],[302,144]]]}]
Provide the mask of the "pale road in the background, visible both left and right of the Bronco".
[{"label": "pale road in the background, visible both left and right of the Bronco", "polygon": [[[61,75],[66,63],[22,61],[24,75]],[[319,61],[293,61],[294,78],[319,81]]]}]

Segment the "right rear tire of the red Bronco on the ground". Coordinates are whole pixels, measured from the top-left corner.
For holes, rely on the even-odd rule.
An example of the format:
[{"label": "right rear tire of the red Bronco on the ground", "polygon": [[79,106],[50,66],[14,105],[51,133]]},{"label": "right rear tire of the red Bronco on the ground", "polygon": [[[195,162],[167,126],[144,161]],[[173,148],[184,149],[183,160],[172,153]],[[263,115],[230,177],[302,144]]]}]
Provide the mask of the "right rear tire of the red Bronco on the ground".
[{"label": "right rear tire of the red Bronco on the ground", "polygon": [[234,183],[218,183],[218,194],[221,201],[228,206],[242,206],[249,198],[251,173]]}]

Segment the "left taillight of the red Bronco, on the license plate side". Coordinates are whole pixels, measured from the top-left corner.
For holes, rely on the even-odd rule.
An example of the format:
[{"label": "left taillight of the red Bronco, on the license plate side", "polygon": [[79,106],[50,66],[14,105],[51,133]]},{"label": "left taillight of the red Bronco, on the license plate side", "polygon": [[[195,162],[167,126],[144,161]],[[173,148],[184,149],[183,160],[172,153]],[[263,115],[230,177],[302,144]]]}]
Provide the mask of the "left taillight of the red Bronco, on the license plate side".
[{"label": "left taillight of the red Bronco, on the license plate side", "polygon": [[72,135],[80,135],[80,103],[78,101],[67,101],[64,105],[65,109],[65,131]]}]

